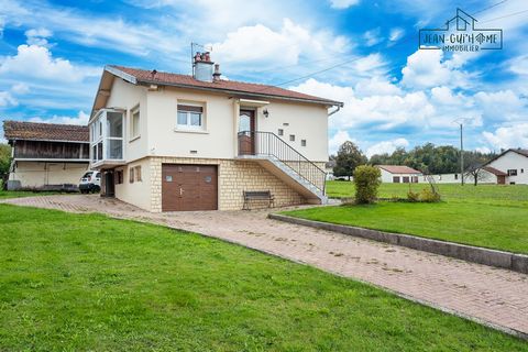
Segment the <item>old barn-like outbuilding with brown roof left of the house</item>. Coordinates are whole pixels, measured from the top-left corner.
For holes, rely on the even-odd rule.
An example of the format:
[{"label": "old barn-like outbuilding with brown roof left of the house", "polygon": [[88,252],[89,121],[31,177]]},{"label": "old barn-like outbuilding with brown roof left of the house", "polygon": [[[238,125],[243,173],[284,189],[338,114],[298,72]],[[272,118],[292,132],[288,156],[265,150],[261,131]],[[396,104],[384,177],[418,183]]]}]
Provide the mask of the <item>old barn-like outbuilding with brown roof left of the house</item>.
[{"label": "old barn-like outbuilding with brown roof left of the house", "polygon": [[87,127],[4,121],[12,147],[8,189],[76,190],[89,167]]}]

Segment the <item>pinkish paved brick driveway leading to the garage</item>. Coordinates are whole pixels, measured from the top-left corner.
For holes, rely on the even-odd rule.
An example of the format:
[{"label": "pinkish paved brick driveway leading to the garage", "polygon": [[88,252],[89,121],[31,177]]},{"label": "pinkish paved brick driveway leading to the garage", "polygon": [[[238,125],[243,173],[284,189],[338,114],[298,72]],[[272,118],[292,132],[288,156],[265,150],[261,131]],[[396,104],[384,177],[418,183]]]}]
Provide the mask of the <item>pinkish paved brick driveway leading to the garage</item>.
[{"label": "pinkish paved brick driveway leading to the garage", "polygon": [[185,229],[369,282],[429,306],[528,337],[528,275],[266,219],[266,211],[148,213],[98,196],[9,199],[20,206],[101,211]]}]

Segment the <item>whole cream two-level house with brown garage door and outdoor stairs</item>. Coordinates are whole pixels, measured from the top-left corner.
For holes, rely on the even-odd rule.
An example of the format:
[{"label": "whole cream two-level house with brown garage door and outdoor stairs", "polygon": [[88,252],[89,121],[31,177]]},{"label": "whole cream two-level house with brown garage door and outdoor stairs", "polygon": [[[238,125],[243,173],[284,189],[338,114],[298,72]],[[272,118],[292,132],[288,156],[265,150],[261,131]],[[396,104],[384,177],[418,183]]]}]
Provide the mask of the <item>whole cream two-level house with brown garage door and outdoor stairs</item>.
[{"label": "whole cream two-level house with brown garage door and outdoor stairs", "polygon": [[244,191],[324,202],[329,110],[342,103],[220,79],[208,58],[195,66],[105,68],[89,121],[102,195],[153,212],[238,210]]}]

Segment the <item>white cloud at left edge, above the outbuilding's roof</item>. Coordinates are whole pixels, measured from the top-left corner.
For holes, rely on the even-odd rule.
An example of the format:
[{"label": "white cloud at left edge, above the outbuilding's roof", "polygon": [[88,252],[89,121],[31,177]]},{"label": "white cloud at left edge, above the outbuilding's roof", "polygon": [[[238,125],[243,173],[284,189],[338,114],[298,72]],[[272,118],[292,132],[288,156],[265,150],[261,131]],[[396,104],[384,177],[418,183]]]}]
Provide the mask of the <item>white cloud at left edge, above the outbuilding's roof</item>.
[{"label": "white cloud at left edge, above the outbuilding's roof", "polygon": [[80,81],[85,77],[100,75],[99,68],[74,66],[64,58],[54,58],[45,46],[20,45],[14,56],[7,56],[0,64],[0,75],[18,75],[53,81]]}]

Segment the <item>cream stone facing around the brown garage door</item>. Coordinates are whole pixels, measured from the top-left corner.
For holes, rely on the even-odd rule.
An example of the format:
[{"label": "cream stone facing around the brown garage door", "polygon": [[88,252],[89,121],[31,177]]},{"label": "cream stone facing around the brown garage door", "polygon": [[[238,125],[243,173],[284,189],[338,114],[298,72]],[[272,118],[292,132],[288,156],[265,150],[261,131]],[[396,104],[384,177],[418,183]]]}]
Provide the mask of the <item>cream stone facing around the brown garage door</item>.
[{"label": "cream stone facing around the brown garage door", "polygon": [[[244,204],[244,190],[270,190],[275,197],[275,207],[306,204],[306,199],[278,177],[267,172],[255,162],[151,157],[151,211],[162,211],[162,164],[218,165],[218,209],[241,210]],[[254,206],[261,206],[255,202]]]}]

